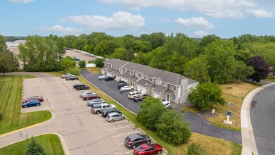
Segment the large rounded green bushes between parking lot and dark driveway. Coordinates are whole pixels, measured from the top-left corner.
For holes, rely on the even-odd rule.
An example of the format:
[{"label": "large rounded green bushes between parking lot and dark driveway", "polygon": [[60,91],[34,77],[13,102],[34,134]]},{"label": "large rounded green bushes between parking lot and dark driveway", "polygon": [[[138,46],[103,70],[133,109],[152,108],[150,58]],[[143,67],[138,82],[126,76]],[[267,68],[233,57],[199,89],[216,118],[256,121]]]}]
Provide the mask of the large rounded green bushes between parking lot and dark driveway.
[{"label": "large rounded green bushes between parking lot and dark driveway", "polygon": [[190,123],[182,120],[181,113],[165,108],[159,99],[147,97],[136,119],[156,132],[167,143],[179,145],[191,137]]}]

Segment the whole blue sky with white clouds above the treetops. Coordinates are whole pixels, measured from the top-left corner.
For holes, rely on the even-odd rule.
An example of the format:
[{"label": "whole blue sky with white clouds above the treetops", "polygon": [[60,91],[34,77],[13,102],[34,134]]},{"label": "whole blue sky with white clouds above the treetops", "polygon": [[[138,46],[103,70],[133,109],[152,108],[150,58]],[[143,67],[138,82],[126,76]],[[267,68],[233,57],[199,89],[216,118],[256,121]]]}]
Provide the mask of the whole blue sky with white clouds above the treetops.
[{"label": "whole blue sky with white clouds above the treetops", "polygon": [[0,35],[275,35],[273,0],[0,0]]}]

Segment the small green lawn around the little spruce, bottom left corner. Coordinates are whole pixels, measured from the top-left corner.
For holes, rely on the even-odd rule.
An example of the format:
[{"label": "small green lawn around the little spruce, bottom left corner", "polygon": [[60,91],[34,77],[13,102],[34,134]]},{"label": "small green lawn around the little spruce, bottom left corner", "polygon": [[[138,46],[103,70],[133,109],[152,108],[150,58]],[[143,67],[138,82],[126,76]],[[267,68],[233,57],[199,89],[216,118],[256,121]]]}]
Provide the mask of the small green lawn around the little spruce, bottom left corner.
[{"label": "small green lawn around the little spruce, bottom left corner", "polygon": [[[54,154],[54,155],[65,154],[58,135],[54,135],[54,134],[39,135],[37,137],[34,137],[34,140],[37,140],[37,142],[39,142],[39,144],[41,145],[41,147],[43,147],[46,154]],[[27,144],[29,144],[30,142],[31,142],[31,138],[28,141],[23,140],[15,144],[8,145],[0,149],[0,154],[9,154],[9,155],[25,154],[25,152],[27,151]]]}]

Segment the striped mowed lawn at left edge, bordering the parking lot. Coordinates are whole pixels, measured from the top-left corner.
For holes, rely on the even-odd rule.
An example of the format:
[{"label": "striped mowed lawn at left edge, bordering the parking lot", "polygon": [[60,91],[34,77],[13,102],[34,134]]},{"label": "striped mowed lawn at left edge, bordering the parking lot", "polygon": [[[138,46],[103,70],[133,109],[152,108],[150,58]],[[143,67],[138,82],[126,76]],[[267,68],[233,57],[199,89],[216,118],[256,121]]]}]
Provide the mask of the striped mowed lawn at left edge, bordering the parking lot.
[{"label": "striped mowed lawn at left edge, bordering the parking lot", "polygon": [[33,75],[0,76],[0,113],[3,114],[0,120],[0,135],[51,118],[50,111],[21,113],[23,79],[34,77]]}]

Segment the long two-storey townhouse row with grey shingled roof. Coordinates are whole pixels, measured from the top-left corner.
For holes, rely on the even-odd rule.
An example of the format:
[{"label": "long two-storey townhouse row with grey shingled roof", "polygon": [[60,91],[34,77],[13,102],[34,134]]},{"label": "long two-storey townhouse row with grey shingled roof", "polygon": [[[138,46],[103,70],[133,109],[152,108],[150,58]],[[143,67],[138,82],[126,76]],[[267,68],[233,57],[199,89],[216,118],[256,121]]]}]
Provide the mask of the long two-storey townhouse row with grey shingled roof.
[{"label": "long two-storey townhouse row with grey shingled roof", "polygon": [[138,91],[152,97],[177,104],[186,103],[188,91],[198,82],[177,73],[151,68],[138,63],[122,61],[116,58],[106,60],[101,73],[115,77],[115,80],[127,82]]}]

